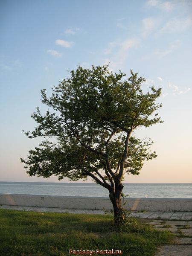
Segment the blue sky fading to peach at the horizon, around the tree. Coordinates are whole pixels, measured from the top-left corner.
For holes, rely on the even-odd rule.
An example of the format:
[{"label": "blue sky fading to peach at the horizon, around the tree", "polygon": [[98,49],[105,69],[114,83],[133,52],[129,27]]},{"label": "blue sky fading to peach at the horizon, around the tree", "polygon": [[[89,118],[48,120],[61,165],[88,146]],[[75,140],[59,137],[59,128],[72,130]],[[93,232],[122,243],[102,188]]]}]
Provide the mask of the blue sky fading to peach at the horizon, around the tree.
[{"label": "blue sky fading to peach at the horizon, around the tree", "polygon": [[0,37],[0,181],[58,181],[26,174],[20,157],[40,139],[22,130],[46,109],[41,89],[50,93],[79,64],[109,64],[162,88],[163,124],[135,131],[154,140],[158,157],[124,182],[192,182],[191,0],[1,0]]}]

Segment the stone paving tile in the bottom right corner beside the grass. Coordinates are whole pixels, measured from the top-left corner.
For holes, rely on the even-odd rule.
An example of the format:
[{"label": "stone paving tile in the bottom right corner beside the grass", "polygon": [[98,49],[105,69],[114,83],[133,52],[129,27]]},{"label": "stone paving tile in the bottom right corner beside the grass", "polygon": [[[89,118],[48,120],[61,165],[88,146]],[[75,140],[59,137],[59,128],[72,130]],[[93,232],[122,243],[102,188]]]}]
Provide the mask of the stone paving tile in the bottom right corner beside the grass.
[{"label": "stone paving tile in the bottom right corner beside the grass", "polygon": [[170,244],[160,248],[155,256],[191,256],[192,245]]}]

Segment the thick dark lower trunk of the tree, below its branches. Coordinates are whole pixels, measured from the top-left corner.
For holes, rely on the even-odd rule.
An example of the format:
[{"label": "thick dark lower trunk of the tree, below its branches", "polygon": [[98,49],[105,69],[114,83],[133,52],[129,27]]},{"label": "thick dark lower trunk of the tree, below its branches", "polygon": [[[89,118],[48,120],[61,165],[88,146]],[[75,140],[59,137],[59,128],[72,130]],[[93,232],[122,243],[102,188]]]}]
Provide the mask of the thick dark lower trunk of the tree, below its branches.
[{"label": "thick dark lower trunk of the tree, below its branches", "polygon": [[122,193],[123,185],[115,184],[115,189],[110,191],[109,198],[111,200],[111,203],[113,204],[113,210],[114,210],[114,222],[115,224],[120,224],[125,218],[125,215],[123,213],[122,205],[121,205],[121,193]]}]

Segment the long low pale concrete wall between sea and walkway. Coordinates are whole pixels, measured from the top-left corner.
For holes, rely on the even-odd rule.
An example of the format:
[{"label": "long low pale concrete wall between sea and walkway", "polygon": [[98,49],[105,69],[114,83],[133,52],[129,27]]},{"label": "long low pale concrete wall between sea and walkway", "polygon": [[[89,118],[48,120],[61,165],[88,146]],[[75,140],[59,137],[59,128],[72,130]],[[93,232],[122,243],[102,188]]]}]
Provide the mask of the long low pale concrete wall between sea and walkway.
[{"label": "long low pale concrete wall between sea and walkway", "polygon": [[[192,211],[192,198],[125,198],[132,211]],[[55,207],[69,209],[113,209],[109,198],[59,195],[0,194],[1,205]]]}]

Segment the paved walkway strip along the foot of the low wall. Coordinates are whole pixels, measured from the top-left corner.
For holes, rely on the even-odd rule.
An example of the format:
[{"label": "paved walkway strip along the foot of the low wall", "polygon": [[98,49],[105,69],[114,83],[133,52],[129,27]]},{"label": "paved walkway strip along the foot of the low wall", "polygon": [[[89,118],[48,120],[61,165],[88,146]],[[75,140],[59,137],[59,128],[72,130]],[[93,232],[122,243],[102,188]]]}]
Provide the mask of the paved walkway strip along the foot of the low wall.
[{"label": "paved walkway strip along the foot of the low wall", "polygon": [[[69,212],[69,213],[86,213],[86,214],[105,214],[104,210],[88,209],[65,209],[49,207],[32,207],[32,206],[12,206],[0,205],[0,209],[13,209],[19,211],[34,212]],[[168,220],[192,220],[192,212],[131,212],[130,217],[148,218],[148,219],[168,219]]]}]

